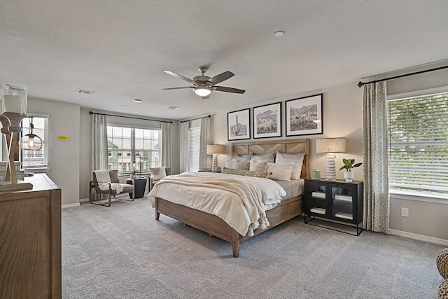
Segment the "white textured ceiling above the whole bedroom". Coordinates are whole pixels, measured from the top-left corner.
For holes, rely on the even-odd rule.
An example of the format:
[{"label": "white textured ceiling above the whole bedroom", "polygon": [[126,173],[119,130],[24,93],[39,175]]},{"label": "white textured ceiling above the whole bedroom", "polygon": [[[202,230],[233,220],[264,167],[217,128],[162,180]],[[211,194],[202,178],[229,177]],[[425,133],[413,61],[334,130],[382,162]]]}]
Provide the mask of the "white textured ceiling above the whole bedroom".
[{"label": "white textured ceiling above the whole bedroom", "polygon": [[[447,15],[447,0],[1,0],[0,83],[183,119],[446,60]],[[210,105],[189,89],[161,90],[188,85],[163,70],[193,78],[202,65],[208,76],[232,71],[218,85],[246,93],[214,91]]]}]

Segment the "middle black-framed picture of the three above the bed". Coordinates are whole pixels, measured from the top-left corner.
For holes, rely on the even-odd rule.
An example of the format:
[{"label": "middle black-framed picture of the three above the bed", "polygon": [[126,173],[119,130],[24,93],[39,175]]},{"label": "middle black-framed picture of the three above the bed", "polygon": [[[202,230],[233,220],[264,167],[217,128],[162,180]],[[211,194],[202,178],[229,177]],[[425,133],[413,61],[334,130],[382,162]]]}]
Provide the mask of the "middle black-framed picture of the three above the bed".
[{"label": "middle black-framed picture of the three above the bed", "polygon": [[253,107],[253,139],[281,137],[281,102]]}]

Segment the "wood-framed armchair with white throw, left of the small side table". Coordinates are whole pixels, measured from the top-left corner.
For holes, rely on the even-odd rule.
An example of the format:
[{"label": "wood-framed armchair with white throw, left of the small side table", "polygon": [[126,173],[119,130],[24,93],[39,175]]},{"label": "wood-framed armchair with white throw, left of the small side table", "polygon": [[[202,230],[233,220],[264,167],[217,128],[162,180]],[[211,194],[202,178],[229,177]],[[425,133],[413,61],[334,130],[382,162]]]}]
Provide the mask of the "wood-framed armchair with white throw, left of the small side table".
[{"label": "wood-framed armchair with white throw, left of the small side table", "polygon": [[[106,175],[109,172],[109,177]],[[100,177],[102,179],[100,179]],[[107,207],[111,206],[112,199],[111,197],[116,197],[117,194],[121,193],[132,193],[132,201],[135,199],[134,195],[134,183],[132,185],[127,183],[120,183],[120,180],[118,179],[118,171],[117,170],[109,170],[109,171],[102,171],[102,170],[95,170],[93,172],[92,181],[90,181],[90,192],[89,192],[89,199],[91,204],[98,204],[93,202],[92,198],[92,190],[94,190],[96,200],[99,200],[99,197],[102,194],[109,195],[109,204],[107,204]],[[108,180],[109,179],[109,180]],[[106,206],[106,204],[99,204],[102,206]]]}]

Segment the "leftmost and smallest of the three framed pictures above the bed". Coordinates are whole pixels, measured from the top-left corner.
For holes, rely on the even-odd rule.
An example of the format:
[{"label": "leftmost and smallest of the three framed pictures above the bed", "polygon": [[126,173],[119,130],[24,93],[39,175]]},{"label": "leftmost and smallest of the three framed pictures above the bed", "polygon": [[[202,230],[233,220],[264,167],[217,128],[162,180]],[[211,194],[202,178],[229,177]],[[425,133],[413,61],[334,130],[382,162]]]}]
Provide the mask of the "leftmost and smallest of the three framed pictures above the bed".
[{"label": "leftmost and smallest of the three framed pictures above the bed", "polygon": [[251,139],[250,109],[227,113],[228,140]]}]

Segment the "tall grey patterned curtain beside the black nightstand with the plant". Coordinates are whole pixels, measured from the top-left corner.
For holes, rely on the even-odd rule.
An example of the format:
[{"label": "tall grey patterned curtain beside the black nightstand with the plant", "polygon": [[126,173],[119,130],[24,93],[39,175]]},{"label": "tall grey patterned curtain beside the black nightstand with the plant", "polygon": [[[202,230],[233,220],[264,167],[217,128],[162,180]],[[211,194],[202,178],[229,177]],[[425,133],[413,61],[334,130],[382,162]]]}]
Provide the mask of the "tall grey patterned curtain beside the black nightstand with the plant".
[{"label": "tall grey patterned curtain beside the black nightstand with the plant", "polygon": [[363,228],[385,232],[389,228],[388,143],[386,82],[363,87]]}]

